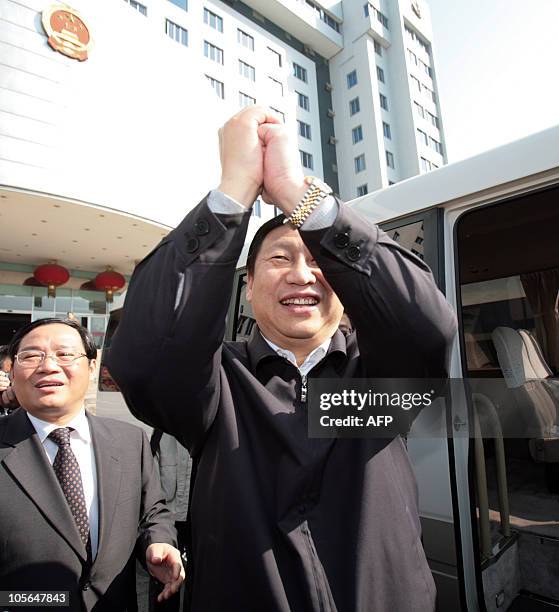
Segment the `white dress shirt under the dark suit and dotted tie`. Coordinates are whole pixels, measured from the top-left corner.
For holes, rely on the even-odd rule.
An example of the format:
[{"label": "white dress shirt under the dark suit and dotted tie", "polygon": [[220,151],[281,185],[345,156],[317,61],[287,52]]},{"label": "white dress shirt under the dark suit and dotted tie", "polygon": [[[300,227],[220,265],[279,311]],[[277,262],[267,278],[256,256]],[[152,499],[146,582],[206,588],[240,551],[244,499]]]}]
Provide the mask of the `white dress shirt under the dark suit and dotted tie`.
[{"label": "white dress shirt under the dark suit and dotted tie", "polygon": [[[51,431],[58,429],[60,425],[54,425],[34,417],[27,413],[41,444],[45,449],[47,458],[52,465],[54,458],[58,452],[58,445],[51,440],[48,435]],[[97,555],[97,546],[99,542],[99,496],[97,494],[97,467],[95,465],[95,453],[91,442],[91,431],[89,430],[89,422],[85,416],[85,409],[82,409],[69,423],[64,427],[72,427],[70,432],[70,448],[74,453],[80,472],[82,475],[83,493],[85,496],[85,505],[87,508],[87,516],[89,518],[89,533],[91,536],[91,554],[93,559]]]}]

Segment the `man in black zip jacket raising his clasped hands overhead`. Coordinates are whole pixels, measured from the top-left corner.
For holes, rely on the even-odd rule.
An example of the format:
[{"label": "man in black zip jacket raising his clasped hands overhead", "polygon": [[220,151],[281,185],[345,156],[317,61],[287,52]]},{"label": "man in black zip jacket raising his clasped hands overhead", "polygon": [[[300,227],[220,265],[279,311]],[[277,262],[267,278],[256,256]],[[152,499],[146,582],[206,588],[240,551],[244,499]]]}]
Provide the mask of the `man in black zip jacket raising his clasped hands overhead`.
[{"label": "man in black zip jacket raising his clasped hands overhead", "polygon": [[[137,267],[109,364],[132,412],[194,458],[189,609],[432,611],[401,438],[310,439],[306,385],[446,377],[452,310],[420,259],[304,176],[271,111],[244,109],[220,143],[219,187]],[[224,342],[259,194],[283,216],[249,250],[257,328]]]}]

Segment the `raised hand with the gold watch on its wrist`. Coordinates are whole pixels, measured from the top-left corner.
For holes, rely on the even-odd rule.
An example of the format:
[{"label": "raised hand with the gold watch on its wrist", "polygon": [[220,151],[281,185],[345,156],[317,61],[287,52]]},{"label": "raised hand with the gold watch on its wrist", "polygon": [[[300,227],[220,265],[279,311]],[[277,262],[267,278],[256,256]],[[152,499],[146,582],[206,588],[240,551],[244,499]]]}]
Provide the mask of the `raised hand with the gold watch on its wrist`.
[{"label": "raised hand with the gold watch on its wrist", "polygon": [[262,197],[289,216],[307,190],[297,142],[283,124],[265,123],[258,134],[264,145]]}]

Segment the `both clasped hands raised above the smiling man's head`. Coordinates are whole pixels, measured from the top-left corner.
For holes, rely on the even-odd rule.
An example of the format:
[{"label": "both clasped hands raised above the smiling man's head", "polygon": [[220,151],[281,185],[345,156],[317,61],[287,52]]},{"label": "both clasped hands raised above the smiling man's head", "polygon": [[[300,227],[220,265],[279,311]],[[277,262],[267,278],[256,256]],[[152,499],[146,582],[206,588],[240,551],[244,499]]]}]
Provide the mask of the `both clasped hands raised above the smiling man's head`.
[{"label": "both clasped hands raised above the smiling man's head", "polygon": [[219,130],[219,190],[250,208],[259,195],[286,216],[307,185],[294,138],[270,109],[250,106]]}]

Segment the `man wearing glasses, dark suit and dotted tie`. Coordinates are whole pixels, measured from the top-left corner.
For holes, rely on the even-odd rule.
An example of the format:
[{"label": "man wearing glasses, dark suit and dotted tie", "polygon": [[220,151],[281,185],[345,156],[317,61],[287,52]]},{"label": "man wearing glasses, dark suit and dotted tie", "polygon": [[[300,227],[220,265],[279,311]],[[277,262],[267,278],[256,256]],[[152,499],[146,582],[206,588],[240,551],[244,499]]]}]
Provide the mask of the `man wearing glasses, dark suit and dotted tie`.
[{"label": "man wearing glasses, dark suit and dotted tie", "polygon": [[135,551],[167,599],[184,579],[173,517],[142,430],[85,412],[92,337],[41,319],[9,355],[22,409],[0,422],[2,590],[32,591],[39,609],[48,593],[69,610],[134,609]]}]

